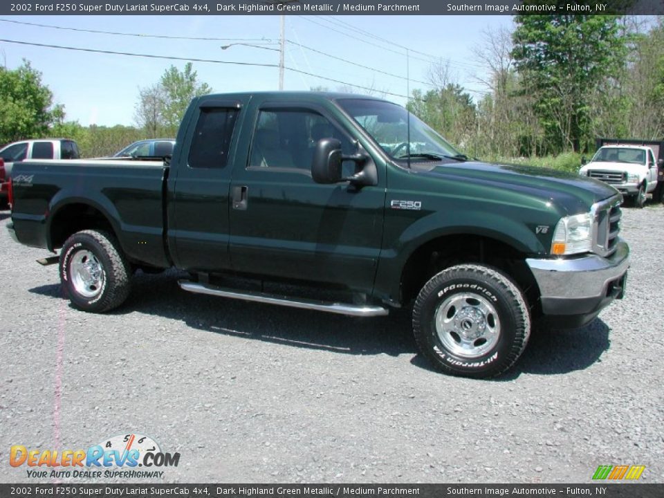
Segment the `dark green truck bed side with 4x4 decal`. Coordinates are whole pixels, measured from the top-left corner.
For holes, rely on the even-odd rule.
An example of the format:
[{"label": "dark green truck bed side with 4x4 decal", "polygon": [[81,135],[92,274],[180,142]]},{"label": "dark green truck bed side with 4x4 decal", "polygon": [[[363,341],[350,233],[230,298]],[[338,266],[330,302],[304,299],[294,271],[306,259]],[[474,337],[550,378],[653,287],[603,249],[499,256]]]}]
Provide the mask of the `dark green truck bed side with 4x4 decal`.
[{"label": "dark green truck bed side with 4x4 decal", "polygon": [[[111,220],[130,260],[169,266],[163,206],[167,167],[145,160],[26,160],[15,165],[12,221],[17,239],[55,251],[64,241],[50,230],[58,216],[90,208]],[[66,205],[67,209],[59,211]],[[59,211],[57,216],[49,212]],[[92,213],[90,213],[92,215]]]}]

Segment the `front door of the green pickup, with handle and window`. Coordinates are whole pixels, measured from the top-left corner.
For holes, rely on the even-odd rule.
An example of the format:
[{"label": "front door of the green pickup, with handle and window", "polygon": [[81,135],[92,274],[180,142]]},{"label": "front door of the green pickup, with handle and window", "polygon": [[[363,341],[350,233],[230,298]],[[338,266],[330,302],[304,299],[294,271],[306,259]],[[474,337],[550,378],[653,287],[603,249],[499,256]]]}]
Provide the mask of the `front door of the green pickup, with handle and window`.
[{"label": "front door of the green pickup, with handle and window", "polygon": [[[231,182],[230,257],[241,273],[340,284],[371,292],[385,205],[379,185],[321,185],[311,177],[315,143],[351,135],[324,109],[295,102],[256,105],[245,165],[240,151]],[[344,176],[355,163],[344,164]]]}]

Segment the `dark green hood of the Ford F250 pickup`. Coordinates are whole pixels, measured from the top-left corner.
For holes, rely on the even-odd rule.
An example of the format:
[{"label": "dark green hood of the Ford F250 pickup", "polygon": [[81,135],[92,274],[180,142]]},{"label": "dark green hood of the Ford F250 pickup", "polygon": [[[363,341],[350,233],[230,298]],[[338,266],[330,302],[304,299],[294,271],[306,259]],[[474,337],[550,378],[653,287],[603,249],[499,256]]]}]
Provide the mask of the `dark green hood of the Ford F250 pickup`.
[{"label": "dark green hood of the Ford F250 pickup", "polygon": [[[416,165],[413,167],[417,169]],[[614,187],[587,176],[525,165],[447,163],[423,174],[551,201],[568,214],[587,212],[594,203],[618,193]]]}]

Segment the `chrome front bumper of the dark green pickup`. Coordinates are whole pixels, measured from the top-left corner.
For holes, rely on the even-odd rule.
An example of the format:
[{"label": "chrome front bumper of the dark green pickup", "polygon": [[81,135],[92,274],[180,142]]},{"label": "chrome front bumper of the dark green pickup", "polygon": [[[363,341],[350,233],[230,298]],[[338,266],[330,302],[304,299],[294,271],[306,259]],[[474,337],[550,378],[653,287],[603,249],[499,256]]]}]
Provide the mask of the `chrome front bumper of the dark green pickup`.
[{"label": "chrome front bumper of the dark green pickup", "polygon": [[604,258],[587,255],[575,259],[526,259],[540,287],[545,315],[598,313],[625,291],[629,246],[618,241],[616,251]]}]

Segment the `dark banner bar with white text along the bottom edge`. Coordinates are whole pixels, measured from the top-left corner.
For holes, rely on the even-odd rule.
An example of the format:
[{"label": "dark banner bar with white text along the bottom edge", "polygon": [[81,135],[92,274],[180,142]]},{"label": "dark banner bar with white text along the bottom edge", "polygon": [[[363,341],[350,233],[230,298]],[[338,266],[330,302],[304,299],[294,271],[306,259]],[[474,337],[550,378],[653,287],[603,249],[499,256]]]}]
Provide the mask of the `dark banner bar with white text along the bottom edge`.
[{"label": "dark banner bar with white text along the bottom edge", "polygon": [[0,484],[0,497],[660,498],[664,484]]}]

